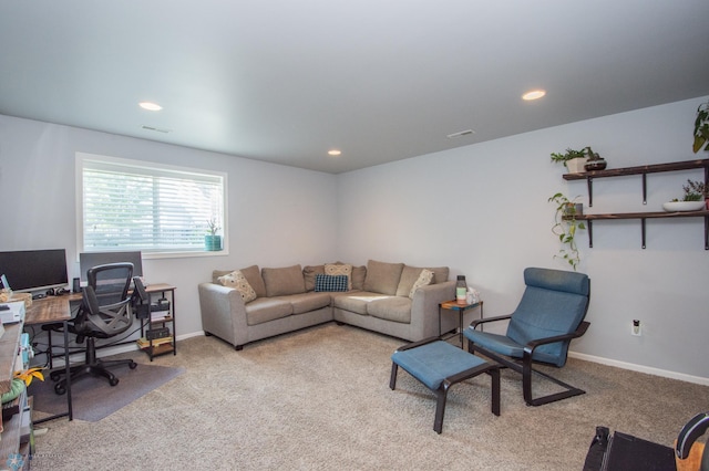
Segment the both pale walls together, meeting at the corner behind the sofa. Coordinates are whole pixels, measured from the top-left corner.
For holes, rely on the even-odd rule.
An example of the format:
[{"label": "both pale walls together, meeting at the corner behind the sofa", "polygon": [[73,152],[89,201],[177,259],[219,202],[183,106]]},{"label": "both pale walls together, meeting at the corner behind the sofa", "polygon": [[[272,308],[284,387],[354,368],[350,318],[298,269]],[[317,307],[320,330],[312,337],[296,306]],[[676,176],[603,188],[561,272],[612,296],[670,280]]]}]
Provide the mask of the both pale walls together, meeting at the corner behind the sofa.
[{"label": "both pale walls together, meeting at the corner behind the sofa", "polygon": [[[691,153],[690,100],[425,155],[340,176],[299,170],[104,133],[0,116],[0,250],[66,248],[76,254],[74,153],[226,171],[230,253],[148,260],[148,281],[177,286],[177,333],[202,329],[197,284],[213,269],[257,263],[285,266],[368,259],[449,265],[485,301],[485,315],[518,301],[525,266],[565,266],[551,233],[556,191],[583,195],[584,181],[562,179],[549,153],[592,145],[609,167],[707,158]],[[659,209],[699,170],[596,180],[588,212]],[[325,196],[325,197],[323,197]],[[339,221],[339,222],[338,222]],[[296,230],[297,229],[297,230]],[[709,383],[702,350],[709,332],[709,251],[703,220],[596,222],[594,248],[580,234],[579,271],[592,276],[587,335],[576,355]],[[70,278],[78,264],[70,264]],[[639,318],[643,336],[629,335]]]}]

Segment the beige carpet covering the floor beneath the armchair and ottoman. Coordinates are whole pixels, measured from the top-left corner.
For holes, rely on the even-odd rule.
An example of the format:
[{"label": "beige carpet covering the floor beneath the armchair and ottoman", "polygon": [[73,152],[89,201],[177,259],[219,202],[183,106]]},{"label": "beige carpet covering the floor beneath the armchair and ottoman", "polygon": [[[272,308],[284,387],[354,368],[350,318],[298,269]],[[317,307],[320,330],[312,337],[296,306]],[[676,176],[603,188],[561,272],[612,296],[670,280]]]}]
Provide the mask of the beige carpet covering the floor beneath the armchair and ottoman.
[{"label": "beige carpet covering the floor beneath the armchair and ottoman", "polygon": [[389,389],[402,344],[336,324],[242,352],[214,337],[183,341],[154,362],[183,375],[97,422],[43,423],[32,467],[568,471],[583,468],[596,426],[671,446],[709,410],[709,387],[569,359],[561,376],[586,395],[526,407],[518,376],[504,371],[495,417],[483,375],[451,389],[436,435],[425,387],[400,370]]}]

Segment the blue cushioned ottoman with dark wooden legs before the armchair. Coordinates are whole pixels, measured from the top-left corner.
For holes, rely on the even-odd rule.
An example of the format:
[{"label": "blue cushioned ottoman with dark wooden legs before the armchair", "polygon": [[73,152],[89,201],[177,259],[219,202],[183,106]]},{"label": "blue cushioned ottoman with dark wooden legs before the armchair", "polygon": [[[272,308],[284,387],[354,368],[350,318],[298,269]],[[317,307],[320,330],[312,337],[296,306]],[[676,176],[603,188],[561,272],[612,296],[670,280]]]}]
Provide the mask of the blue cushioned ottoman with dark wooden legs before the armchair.
[{"label": "blue cushioned ottoman with dark wooden legs before the armchair", "polygon": [[486,373],[492,378],[492,414],[500,416],[500,365],[489,363],[438,337],[399,347],[391,356],[389,387],[397,386],[401,366],[407,373],[431,389],[436,397],[433,430],[441,433],[448,390],[456,383]]}]

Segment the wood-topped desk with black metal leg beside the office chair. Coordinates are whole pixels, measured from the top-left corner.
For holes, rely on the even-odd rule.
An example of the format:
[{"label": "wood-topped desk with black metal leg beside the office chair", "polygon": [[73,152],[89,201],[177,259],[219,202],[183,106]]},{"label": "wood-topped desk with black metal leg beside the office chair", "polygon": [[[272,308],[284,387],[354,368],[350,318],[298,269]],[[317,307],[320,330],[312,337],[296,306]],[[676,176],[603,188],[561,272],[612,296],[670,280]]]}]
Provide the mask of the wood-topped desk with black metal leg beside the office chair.
[{"label": "wood-topped desk with black metal leg beside the office chair", "polygon": [[[59,417],[69,416],[69,420],[73,420],[71,405],[71,365],[69,364],[69,328],[66,322],[71,320],[71,296],[50,296],[41,300],[32,301],[32,305],[27,310],[24,315],[24,325],[42,325],[63,323],[64,331],[64,369],[66,375],[66,414],[58,414],[52,417],[40,419],[35,423],[45,422]],[[81,300],[81,295],[79,296]]]}]

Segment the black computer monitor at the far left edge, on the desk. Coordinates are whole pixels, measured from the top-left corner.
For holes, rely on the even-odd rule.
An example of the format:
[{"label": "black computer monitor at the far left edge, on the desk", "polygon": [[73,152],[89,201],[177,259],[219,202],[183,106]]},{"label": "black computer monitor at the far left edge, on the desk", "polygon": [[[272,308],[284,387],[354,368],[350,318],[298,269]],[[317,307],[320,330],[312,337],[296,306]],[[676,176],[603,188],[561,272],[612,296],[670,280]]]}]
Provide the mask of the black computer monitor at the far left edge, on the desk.
[{"label": "black computer monitor at the far left edge, on the desk", "polygon": [[12,291],[33,292],[64,287],[69,283],[66,275],[66,251],[20,250],[0,252],[0,274]]}]

